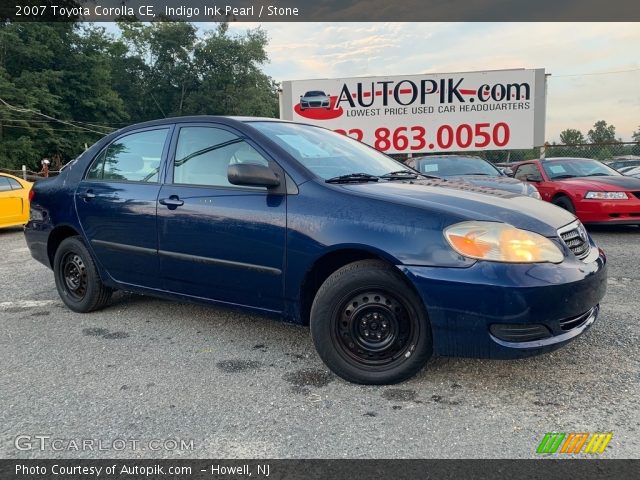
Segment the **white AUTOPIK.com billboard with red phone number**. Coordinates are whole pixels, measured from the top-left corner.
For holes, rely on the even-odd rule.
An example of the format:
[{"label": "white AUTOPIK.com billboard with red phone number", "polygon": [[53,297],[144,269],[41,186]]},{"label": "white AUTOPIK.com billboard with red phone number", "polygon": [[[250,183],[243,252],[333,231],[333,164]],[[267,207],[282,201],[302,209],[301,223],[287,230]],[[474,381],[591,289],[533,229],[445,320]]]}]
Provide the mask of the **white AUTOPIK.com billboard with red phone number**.
[{"label": "white AUTOPIK.com billboard with red phone number", "polygon": [[386,153],[527,149],[544,144],[544,69],[295,80],[280,118]]}]

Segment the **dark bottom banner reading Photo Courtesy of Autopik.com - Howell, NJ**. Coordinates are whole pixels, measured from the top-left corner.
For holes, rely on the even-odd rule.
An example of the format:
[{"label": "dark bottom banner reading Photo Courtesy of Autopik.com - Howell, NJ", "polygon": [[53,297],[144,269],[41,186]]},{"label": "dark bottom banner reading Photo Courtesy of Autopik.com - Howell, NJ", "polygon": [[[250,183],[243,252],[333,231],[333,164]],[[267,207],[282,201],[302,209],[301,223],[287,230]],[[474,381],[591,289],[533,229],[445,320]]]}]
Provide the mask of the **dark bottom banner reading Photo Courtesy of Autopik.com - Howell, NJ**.
[{"label": "dark bottom banner reading Photo Courtesy of Autopik.com - Howell, NJ", "polygon": [[639,460],[0,460],[3,480],[631,480]]}]

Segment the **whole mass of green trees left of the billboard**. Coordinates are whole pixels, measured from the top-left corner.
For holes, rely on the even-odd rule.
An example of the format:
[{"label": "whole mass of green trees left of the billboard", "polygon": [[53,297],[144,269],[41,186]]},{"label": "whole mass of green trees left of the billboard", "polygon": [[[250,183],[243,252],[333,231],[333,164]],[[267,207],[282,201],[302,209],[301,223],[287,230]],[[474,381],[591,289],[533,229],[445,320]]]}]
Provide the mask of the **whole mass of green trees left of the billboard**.
[{"label": "whole mass of green trees left of the billboard", "polygon": [[0,23],[0,167],[37,169],[49,157],[55,168],[115,128],[155,118],[277,116],[263,30],[118,26],[113,35],[78,23]]}]

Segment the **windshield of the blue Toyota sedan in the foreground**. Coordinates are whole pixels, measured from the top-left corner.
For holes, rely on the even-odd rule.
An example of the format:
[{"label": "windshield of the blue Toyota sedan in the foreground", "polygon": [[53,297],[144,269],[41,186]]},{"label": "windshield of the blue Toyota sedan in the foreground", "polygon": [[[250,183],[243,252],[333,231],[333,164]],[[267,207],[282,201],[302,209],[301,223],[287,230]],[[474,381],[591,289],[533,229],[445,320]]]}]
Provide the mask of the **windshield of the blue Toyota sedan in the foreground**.
[{"label": "windshield of the blue Toyota sedan in the foreground", "polygon": [[409,170],[364,143],[324,128],[284,122],[251,122],[251,126],[324,180],[353,173],[379,177]]}]

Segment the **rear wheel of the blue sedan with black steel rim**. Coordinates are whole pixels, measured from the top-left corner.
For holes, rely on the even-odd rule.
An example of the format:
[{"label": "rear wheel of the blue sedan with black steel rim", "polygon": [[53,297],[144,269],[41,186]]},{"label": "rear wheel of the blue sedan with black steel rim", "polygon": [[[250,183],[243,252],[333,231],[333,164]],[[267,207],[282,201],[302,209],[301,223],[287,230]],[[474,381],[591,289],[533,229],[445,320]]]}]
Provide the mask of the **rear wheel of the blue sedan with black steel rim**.
[{"label": "rear wheel of the blue sedan with black steel rim", "polygon": [[113,290],[102,284],[93,258],[80,237],[69,237],[60,243],[53,273],[60,298],[74,312],[99,310],[111,299]]}]

